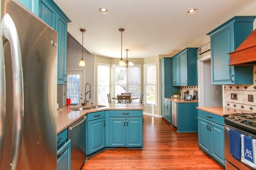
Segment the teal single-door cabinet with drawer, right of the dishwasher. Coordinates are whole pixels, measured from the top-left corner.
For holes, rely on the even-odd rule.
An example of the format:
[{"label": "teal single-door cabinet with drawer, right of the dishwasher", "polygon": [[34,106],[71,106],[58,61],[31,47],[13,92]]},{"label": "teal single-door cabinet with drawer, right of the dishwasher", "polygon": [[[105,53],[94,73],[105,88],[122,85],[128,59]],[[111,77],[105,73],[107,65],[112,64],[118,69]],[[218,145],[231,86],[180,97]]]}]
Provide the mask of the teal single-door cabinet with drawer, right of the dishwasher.
[{"label": "teal single-door cabinet with drawer, right of the dishwasher", "polygon": [[88,113],[86,119],[86,155],[105,148],[105,111]]}]

